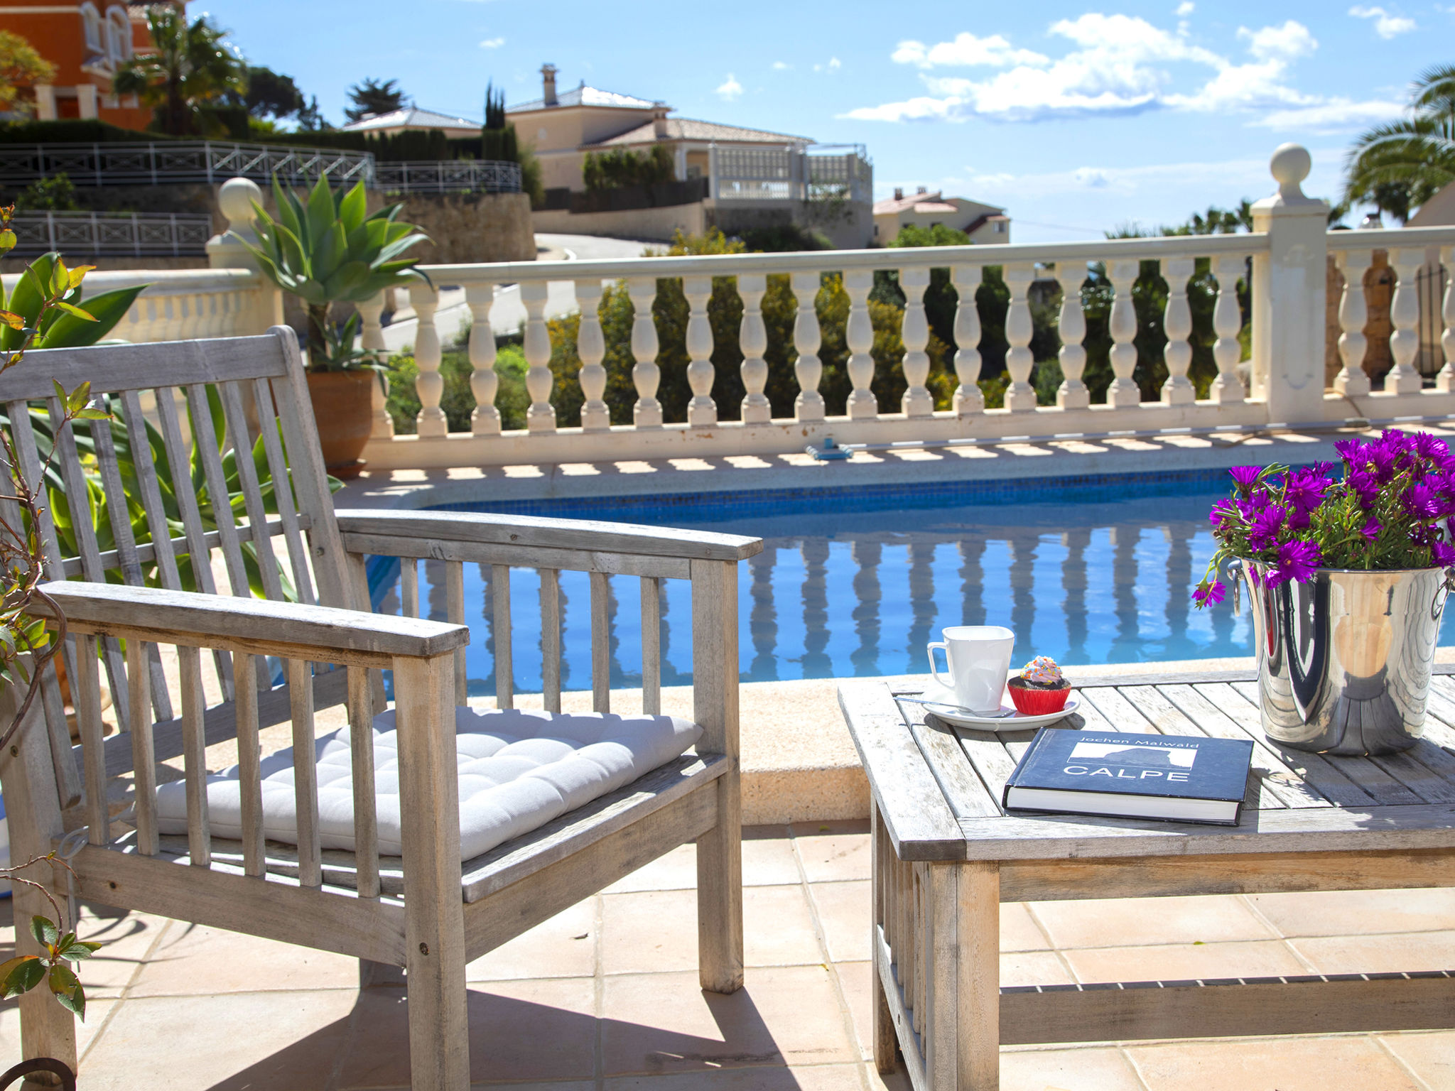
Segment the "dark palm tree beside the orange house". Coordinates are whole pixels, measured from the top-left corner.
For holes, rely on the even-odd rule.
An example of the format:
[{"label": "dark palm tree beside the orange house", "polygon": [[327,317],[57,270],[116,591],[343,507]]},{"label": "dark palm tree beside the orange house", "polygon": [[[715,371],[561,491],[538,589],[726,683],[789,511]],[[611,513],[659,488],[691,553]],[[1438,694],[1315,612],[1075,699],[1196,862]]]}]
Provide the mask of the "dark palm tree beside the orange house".
[{"label": "dark palm tree beside the orange house", "polygon": [[227,32],[207,16],[188,23],[172,6],[147,9],[154,51],[127,61],[112,87],[137,95],[157,115],[163,132],[175,137],[224,131],[215,105],[247,90],[247,65],[224,39]]}]

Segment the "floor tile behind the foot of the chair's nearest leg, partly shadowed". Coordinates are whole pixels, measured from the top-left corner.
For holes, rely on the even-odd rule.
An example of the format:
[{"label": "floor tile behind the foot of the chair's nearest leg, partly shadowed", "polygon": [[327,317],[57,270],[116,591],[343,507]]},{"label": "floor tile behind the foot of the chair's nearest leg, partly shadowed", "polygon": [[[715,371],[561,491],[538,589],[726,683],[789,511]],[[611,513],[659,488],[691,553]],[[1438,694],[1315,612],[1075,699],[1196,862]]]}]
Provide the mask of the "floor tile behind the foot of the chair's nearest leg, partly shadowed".
[{"label": "floor tile behind the foot of the chair's nearest leg, partly shadowed", "polygon": [[[589,978],[471,985],[469,1002],[473,1081],[549,1084],[595,1074],[595,986]],[[359,995],[343,1050],[339,1091],[407,1084],[404,991],[368,989]]]}]

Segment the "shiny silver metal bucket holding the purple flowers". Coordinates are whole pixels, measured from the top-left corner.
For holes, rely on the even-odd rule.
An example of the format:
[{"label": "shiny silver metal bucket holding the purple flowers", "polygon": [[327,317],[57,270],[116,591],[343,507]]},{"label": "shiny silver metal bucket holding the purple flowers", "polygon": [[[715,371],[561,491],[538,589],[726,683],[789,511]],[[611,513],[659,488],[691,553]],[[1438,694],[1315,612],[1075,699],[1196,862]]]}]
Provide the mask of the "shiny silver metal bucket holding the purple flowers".
[{"label": "shiny silver metal bucket holding the purple flowers", "polygon": [[1241,563],[1267,736],[1320,754],[1413,746],[1424,730],[1446,569],[1318,569],[1307,583],[1269,588],[1267,567]]}]

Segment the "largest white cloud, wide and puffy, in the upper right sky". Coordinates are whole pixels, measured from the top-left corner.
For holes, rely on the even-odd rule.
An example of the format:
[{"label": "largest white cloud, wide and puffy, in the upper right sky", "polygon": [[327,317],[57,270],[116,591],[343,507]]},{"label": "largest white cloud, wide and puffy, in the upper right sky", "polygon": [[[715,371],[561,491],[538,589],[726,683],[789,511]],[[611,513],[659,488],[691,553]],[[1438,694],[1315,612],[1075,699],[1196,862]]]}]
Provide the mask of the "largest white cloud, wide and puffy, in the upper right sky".
[{"label": "largest white cloud, wide and puffy, in the upper right sky", "polygon": [[[864,106],[844,116],[860,121],[1043,121],[1151,109],[1240,111],[1261,112],[1266,118],[1257,124],[1277,128],[1288,127],[1295,116],[1327,128],[1339,125],[1340,116],[1347,127],[1391,112],[1385,102],[1326,99],[1292,86],[1292,64],[1318,48],[1308,28],[1292,19],[1280,26],[1240,28],[1238,38],[1251,57],[1243,63],[1195,45],[1184,28],[1171,32],[1126,15],[1087,13],[1061,19],[1049,32],[1074,48],[1051,58],[1017,49],[1000,35],[976,38],[969,33],[936,45],[901,42],[890,55],[899,64],[921,70],[991,65],[1001,71],[979,79],[921,71],[927,95]],[[1209,74],[1200,76],[1199,70]],[[1307,113],[1314,109],[1321,112]]]}]

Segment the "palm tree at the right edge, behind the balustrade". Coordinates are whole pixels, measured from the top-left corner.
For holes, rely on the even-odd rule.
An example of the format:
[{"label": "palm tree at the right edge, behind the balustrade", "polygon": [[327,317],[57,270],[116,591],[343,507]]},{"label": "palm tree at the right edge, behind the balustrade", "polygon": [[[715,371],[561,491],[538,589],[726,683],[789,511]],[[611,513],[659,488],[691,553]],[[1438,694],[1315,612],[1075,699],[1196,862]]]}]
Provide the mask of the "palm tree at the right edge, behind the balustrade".
[{"label": "palm tree at the right edge, behind the balustrade", "polygon": [[1371,204],[1400,223],[1455,182],[1455,64],[1420,73],[1410,116],[1375,125],[1344,164],[1344,202]]}]

